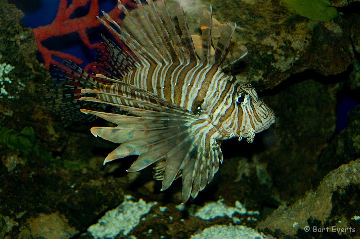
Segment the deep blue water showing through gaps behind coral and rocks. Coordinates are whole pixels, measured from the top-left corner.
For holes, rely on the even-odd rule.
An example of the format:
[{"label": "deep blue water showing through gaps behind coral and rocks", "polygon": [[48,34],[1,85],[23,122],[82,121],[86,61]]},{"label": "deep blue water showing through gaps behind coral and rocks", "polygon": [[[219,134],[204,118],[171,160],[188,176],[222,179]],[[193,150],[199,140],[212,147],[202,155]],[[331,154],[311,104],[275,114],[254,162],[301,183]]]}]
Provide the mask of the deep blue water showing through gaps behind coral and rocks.
[{"label": "deep blue water showing through gaps behind coral and rocks", "polygon": [[[25,16],[22,19],[22,23],[27,27],[36,28],[38,26],[44,26],[50,24],[55,18],[58,11],[59,0],[8,0],[9,3],[15,4],[21,9]],[[72,1],[69,0],[68,4]],[[116,4],[116,0],[100,0],[100,9],[109,11]],[[76,10],[73,17],[85,15],[88,12],[89,4],[80,10]],[[104,27],[97,27],[97,31],[90,33],[90,40],[92,43],[101,42],[102,38],[99,37],[100,33],[108,36],[107,31]],[[94,60],[96,50],[89,50],[84,47],[82,42],[79,40],[77,33],[73,33],[68,36],[56,37],[44,42],[44,45],[49,49],[60,50],[65,53],[70,53],[78,58],[82,59],[84,63],[81,65],[85,66],[87,63]],[[39,56],[41,62],[41,57]],[[360,101],[346,92],[342,91],[338,95],[337,104],[337,125],[336,131],[344,129],[348,124],[348,112],[359,105]]]}]

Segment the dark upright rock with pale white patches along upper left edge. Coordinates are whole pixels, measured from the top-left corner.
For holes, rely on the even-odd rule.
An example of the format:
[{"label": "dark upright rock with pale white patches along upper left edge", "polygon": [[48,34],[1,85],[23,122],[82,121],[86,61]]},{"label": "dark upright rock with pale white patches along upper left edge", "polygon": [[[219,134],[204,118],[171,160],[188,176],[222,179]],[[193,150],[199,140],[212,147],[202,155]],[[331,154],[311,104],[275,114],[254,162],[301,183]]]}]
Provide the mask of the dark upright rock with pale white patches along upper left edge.
[{"label": "dark upright rock with pale white patches along upper left edge", "polygon": [[[15,5],[0,2],[0,126],[18,131],[32,126],[42,147],[61,151],[63,125],[41,106],[50,73],[36,59],[37,45],[32,30],[20,23],[23,16]],[[11,70],[6,73],[1,66]]]}]

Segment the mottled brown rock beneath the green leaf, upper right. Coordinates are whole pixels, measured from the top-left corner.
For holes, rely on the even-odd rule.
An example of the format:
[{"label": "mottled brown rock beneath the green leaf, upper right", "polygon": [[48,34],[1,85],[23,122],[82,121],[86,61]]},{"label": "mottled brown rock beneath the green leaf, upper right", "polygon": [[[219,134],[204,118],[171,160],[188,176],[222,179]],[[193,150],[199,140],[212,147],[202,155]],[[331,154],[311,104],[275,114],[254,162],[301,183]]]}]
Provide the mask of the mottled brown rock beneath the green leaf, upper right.
[{"label": "mottled brown rock beneath the green leaf, upper right", "polygon": [[273,88],[306,70],[339,74],[353,63],[351,39],[358,38],[351,35],[358,27],[347,17],[310,20],[291,12],[280,0],[200,2],[209,5],[217,20],[237,23],[234,41],[245,45],[249,54],[234,73],[239,82],[250,82],[258,90]]}]

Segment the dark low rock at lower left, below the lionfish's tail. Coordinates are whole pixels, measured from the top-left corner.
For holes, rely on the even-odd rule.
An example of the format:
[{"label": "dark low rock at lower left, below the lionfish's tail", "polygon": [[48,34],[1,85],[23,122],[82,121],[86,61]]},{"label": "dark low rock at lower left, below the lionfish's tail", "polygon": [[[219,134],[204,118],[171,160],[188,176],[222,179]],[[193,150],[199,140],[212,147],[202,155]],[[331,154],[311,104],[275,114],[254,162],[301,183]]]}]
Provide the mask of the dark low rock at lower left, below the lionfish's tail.
[{"label": "dark low rock at lower left, below the lionfish's tail", "polygon": [[[14,156],[11,150],[2,153],[0,163],[7,166]],[[0,167],[0,214],[18,223],[8,232],[10,238],[17,238],[26,221],[36,220],[41,213],[54,212],[67,218],[63,226],[84,230],[99,214],[123,200],[124,178],[103,178],[99,171],[85,167],[70,170],[54,159],[29,155],[20,159]],[[36,235],[50,238],[42,232],[38,230]]]}]

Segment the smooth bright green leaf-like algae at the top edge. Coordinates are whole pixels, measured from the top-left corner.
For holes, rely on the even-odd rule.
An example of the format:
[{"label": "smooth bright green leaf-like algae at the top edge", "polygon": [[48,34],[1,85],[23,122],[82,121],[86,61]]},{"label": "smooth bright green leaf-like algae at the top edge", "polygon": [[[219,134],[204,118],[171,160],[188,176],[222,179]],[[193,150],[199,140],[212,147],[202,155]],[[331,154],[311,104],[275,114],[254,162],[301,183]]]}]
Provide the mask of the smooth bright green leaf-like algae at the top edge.
[{"label": "smooth bright green leaf-like algae at the top edge", "polygon": [[284,5],[297,14],[311,20],[329,21],[338,16],[338,11],[328,0],[282,0]]}]

